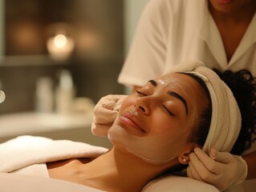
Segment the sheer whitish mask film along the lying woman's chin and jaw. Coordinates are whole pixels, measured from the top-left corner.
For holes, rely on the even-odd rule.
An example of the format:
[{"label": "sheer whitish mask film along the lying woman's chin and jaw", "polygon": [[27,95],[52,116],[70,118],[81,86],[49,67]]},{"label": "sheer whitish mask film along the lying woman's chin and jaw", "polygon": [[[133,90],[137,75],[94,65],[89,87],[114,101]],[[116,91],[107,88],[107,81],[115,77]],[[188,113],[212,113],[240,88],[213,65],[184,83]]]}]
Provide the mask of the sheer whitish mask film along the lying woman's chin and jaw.
[{"label": "sheer whitish mask film along the lying woman's chin and jaw", "polygon": [[124,147],[145,162],[161,164],[177,158],[178,154],[173,151],[181,147],[181,138],[170,139],[171,132],[153,137],[137,137],[114,123],[108,130],[108,139],[113,145]]}]

